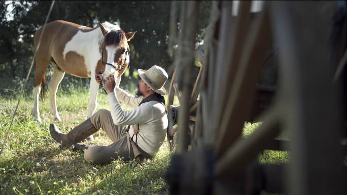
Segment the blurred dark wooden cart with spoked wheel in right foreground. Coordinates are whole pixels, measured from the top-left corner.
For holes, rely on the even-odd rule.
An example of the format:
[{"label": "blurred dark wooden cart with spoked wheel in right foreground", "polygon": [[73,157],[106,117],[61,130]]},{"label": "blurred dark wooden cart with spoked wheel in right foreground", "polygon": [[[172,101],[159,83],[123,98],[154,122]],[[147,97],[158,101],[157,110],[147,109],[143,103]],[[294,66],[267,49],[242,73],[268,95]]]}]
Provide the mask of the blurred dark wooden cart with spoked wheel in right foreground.
[{"label": "blurred dark wooden cart with spoked wheel in right foreground", "polygon": [[[193,70],[199,2],[180,4],[178,65],[168,102],[172,117],[175,89],[179,136],[166,174],[171,194],[346,194],[340,143],[345,24],[333,20],[342,2],[265,2],[252,14],[251,2],[240,1],[237,16],[231,1],[213,2],[198,74]],[[336,25],[338,37],[332,34]],[[338,40],[334,47],[332,36]],[[276,85],[264,87],[262,68],[274,51]],[[242,138],[245,121],[254,120],[263,123]],[[169,140],[172,127],[170,119]],[[275,139],[283,130],[290,141]],[[290,152],[288,165],[257,163],[264,149],[283,147]]]}]

